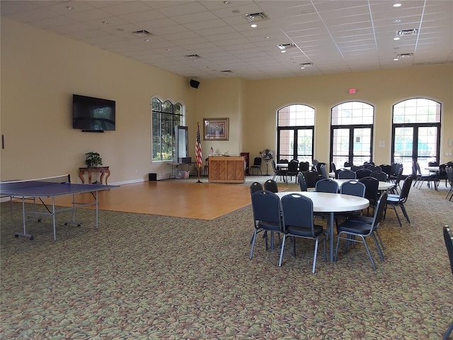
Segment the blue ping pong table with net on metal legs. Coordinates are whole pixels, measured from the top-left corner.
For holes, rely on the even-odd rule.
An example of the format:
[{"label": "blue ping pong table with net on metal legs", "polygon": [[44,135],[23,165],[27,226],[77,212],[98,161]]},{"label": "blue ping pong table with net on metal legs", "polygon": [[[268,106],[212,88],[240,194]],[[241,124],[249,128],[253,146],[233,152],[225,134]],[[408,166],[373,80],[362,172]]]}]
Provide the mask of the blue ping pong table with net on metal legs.
[{"label": "blue ping pong table with net on metal legs", "polygon": [[[75,221],[76,208],[82,208],[89,205],[96,205],[96,228],[98,228],[98,191],[108,190],[110,188],[117,188],[117,186],[107,186],[104,184],[79,184],[71,183],[69,175],[49,177],[46,179],[33,179],[25,181],[6,181],[0,183],[0,195],[9,196],[12,199],[22,201],[22,221],[23,232],[16,232],[14,236],[28,237],[33,239],[33,235],[27,234],[25,220],[28,215],[47,215],[52,216],[52,224],[54,229],[54,239],[57,239],[57,232],[55,229],[55,215],[57,212],[72,210],[72,220],[65,222],[64,225],[76,224],[81,225],[80,222]],[[91,193],[94,202],[91,203],[76,203],[75,196],[78,193]],[[55,198],[58,196],[72,195],[72,206],[70,208],[55,208]],[[26,200],[38,198],[47,211],[36,211],[35,204],[33,210],[26,210]],[[42,201],[43,198],[52,198],[52,205],[47,205]],[[38,222],[40,219],[38,220]]]}]

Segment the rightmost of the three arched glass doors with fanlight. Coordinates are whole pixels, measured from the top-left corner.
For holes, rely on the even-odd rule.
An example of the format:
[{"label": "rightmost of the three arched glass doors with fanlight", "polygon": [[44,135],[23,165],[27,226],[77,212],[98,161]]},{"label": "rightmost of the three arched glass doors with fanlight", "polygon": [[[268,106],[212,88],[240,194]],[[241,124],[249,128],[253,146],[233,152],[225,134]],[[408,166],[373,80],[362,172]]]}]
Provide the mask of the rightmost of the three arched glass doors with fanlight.
[{"label": "rightmost of the three arched glass doors with fanlight", "polygon": [[403,164],[403,174],[440,161],[440,114],[442,105],[428,98],[411,98],[393,107],[391,162]]}]

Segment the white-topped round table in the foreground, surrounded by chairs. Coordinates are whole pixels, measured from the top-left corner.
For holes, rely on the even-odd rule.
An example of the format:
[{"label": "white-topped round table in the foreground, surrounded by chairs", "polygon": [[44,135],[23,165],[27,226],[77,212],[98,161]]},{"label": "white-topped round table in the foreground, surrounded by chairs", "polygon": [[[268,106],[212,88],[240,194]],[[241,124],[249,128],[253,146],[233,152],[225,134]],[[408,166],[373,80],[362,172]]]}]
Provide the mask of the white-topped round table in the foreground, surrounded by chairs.
[{"label": "white-topped round table in the foreground, surrounded by chairs", "polygon": [[328,212],[329,217],[329,260],[333,261],[333,221],[335,219],[335,212],[347,212],[362,210],[368,208],[369,200],[367,198],[343,195],[340,193],[318,193],[316,191],[280,191],[275,193],[278,197],[282,198],[292,193],[299,193],[302,196],[308,197],[313,202],[314,212]]}]

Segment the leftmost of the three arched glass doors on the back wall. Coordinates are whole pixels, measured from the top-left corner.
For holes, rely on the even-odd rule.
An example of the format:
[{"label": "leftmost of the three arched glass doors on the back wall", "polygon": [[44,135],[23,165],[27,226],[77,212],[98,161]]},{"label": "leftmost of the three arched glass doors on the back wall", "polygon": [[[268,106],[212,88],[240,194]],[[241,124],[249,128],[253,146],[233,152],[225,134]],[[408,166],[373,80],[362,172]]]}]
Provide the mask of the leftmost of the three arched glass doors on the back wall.
[{"label": "leftmost of the three arched glass doors on the back wall", "polygon": [[314,108],[289,105],[277,111],[277,159],[313,159]]}]

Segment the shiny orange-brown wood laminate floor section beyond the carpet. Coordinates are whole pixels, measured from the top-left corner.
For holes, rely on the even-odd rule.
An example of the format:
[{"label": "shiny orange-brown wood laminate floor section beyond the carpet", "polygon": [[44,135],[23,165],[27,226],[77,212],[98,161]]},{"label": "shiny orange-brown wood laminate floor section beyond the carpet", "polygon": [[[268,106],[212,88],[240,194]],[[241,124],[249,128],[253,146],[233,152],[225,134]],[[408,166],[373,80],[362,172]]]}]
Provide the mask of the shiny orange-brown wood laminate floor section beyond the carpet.
[{"label": "shiny orange-brown wood laminate floor section beyond the carpet", "polygon": [[[51,203],[51,200],[44,200]],[[76,202],[91,202],[90,193],[76,195]],[[251,203],[248,186],[240,184],[149,181],[125,184],[98,193],[99,209],[151,215],[212,220]],[[71,206],[72,196],[55,199]],[[91,207],[94,208],[94,207]]]}]

